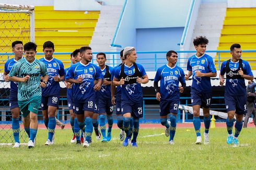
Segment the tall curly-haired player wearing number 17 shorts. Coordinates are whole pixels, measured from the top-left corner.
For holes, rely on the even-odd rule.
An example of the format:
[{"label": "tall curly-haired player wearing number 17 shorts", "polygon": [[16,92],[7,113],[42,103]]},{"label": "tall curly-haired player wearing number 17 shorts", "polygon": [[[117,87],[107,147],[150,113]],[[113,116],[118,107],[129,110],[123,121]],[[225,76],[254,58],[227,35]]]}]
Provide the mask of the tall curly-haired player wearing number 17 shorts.
[{"label": "tall curly-haired player wearing number 17 shorts", "polygon": [[217,72],[210,55],[205,54],[208,40],[205,37],[196,37],[193,41],[196,54],[192,55],[188,60],[188,75],[185,80],[192,77],[191,86],[191,104],[193,107],[193,124],[196,132],[195,144],[202,144],[200,107],[203,107],[204,114],[204,144],[210,143],[209,128],[211,123],[210,107],[212,102],[212,85],[211,77],[216,77]]}]

